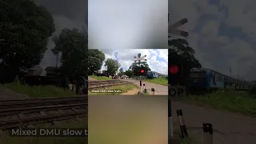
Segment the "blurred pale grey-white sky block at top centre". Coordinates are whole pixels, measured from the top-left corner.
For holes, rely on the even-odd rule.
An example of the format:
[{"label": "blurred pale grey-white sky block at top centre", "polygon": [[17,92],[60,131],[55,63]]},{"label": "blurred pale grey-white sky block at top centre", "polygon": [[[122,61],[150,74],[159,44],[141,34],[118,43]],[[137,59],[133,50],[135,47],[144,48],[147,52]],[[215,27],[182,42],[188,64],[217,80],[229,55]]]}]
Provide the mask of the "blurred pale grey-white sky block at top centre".
[{"label": "blurred pale grey-white sky block at top centre", "polygon": [[89,0],[89,49],[168,48],[168,0]]}]

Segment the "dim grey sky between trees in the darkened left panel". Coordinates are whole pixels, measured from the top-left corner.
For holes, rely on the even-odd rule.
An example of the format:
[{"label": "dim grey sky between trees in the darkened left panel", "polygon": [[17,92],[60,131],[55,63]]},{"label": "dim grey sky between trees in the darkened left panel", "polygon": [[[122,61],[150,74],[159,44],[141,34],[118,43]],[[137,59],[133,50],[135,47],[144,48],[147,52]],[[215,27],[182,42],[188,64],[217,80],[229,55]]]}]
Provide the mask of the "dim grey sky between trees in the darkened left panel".
[{"label": "dim grey sky between trees in the darkened left panel", "polygon": [[[76,28],[78,30],[86,30],[88,2],[87,0],[35,0],[38,5],[46,6],[54,16],[55,32],[58,35],[62,29]],[[54,47],[54,42],[50,38],[48,42],[48,50],[41,62],[41,66],[55,66],[56,58],[50,51]]]}]

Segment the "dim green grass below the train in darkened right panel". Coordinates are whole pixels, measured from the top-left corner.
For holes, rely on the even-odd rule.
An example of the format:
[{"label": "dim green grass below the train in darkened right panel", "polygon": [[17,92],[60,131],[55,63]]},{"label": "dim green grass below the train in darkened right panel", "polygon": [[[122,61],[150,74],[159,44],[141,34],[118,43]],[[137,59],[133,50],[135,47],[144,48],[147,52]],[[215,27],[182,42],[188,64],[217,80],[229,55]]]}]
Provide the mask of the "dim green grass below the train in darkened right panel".
[{"label": "dim green grass below the train in darkened right panel", "polygon": [[202,96],[189,95],[184,102],[199,106],[211,106],[218,110],[227,110],[233,113],[256,116],[256,99],[246,92],[234,90],[218,90],[212,94]]}]

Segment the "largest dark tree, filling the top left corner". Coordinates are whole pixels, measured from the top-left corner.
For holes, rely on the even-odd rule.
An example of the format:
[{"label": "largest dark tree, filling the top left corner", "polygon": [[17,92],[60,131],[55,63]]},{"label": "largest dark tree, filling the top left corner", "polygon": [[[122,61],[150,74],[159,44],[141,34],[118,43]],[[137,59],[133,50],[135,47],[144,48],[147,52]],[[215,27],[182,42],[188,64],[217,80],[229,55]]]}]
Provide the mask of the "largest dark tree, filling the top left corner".
[{"label": "largest dark tree, filling the top left corner", "polygon": [[[13,82],[22,68],[38,65],[54,32],[54,18],[30,0],[0,1],[0,59]],[[4,65],[4,66],[3,66]],[[1,79],[1,78],[0,78]]]}]

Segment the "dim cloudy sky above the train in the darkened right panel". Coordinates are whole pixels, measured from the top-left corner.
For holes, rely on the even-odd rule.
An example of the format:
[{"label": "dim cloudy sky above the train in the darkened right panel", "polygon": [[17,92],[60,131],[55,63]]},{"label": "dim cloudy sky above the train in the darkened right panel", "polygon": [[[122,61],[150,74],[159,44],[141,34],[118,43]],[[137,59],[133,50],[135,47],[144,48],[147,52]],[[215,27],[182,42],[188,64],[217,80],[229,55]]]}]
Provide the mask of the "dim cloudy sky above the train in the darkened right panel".
[{"label": "dim cloudy sky above the train in the darkened right panel", "polygon": [[[187,18],[180,29],[202,66],[235,77],[256,79],[254,0],[170,0],[170,23]],[[175,37],[174,37],[175,38]]]}]

